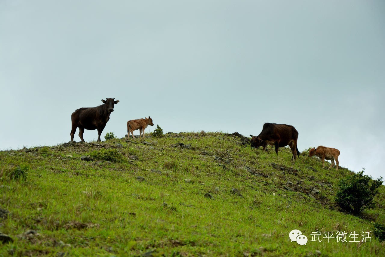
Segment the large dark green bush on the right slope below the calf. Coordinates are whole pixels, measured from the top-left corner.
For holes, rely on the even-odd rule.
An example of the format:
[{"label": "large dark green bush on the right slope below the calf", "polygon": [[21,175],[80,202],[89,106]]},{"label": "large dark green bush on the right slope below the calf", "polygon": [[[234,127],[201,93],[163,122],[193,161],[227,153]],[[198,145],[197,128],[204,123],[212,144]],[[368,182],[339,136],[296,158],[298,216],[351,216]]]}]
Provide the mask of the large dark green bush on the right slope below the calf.
[{"label": "large dark green bush on the right slope below the calf", "polygon": [[340,208],[356,215],[374,207],[373,198],[382,185],[382,177],[372,180],[372,176],[363,175],[364,170],[342,178],[336,194],[336,203]]}]

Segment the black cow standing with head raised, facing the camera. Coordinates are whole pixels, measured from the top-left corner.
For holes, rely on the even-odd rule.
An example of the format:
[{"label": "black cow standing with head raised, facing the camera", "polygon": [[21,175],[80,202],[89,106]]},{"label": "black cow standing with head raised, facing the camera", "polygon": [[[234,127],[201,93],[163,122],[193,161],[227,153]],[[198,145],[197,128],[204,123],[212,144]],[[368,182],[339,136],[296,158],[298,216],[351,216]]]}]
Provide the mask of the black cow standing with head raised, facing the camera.
[{"label": "black cow standing with head raised, facing the camera", "polygon": [[114,111],[114,104],[117,104],[119,100],[114,101],[115,98],[106,98],[102,100],[103,104],[97,107],[80,108],[74,111],[71,115],[72,130],[71,141],[74,141],[74,135],[76,128],[79,128],[79,137],[83,139],[84,129],[94,130],[97,129],[98,138],[100,140],[100,134],[110,119],[110,114]]}]

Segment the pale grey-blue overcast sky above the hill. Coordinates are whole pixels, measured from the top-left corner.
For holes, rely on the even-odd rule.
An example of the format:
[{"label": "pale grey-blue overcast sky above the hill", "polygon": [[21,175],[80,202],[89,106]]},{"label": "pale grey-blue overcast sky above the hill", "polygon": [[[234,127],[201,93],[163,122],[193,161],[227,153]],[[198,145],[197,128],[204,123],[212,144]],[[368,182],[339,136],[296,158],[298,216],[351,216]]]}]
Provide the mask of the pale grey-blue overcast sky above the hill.
[{"label": "pale grey-blue overcast sky above the hill", "polygon": [[383,0],[2,0],[0,149],[68,142],[75,109],[115,97],[102,138],[146,116],[146,132],[286,123],[300,151],[335,147],[377,178],[384,13]]}]

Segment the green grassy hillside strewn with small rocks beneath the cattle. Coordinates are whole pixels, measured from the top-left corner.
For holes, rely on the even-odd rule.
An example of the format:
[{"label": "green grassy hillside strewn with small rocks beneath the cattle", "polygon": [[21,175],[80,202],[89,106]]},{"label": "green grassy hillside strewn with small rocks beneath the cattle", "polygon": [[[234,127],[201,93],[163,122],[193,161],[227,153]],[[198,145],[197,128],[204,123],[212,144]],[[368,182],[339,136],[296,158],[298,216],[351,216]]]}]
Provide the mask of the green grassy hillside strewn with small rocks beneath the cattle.
[{"label": "green grassy hillside strewn with small rocks beneath the cattle", "polygon": [[[362,217],[341,213],[337,184],[351,171],[305,155],[292,165],[290,149],[277,157],[242,142],[170,133],[2,151],[0,232],[13,242],[0,243],[0,255],[385,256],[374,236],[310,242],[317,230],[356,231],[360,240],[373,231],[373,220],[385,220],[384,186]],[[114,153],[104,149],[119,153],[97,160]],[[25,179],[6,178],[24,165]],[[293,229],[306,245],[290,242]]]}]

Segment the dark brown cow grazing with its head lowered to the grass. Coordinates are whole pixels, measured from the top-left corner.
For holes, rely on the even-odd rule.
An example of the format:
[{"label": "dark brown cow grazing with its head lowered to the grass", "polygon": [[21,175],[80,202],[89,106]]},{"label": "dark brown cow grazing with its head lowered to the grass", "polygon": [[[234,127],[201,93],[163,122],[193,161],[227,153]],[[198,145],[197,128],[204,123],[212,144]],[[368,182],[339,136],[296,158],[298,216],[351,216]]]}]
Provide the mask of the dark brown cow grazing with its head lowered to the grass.
[{"label": "dark brown cow grazing with its head lowered to the grass", "polygon": [[258,136],[250,136],[251,147],[258,149],[259,146],[263,146],[263,150],[266,150],[268,144],[274,144],[275,152],[278,155],[278,148],[288,145],[293,152],[291,161],[294,161],[297,155],[300,155],[297,147],[298,131],[291,125],[265,123]]}]

